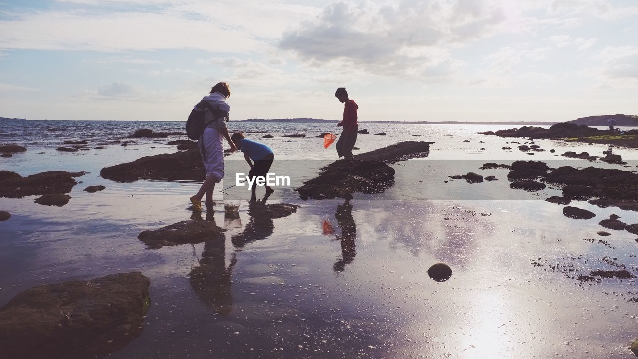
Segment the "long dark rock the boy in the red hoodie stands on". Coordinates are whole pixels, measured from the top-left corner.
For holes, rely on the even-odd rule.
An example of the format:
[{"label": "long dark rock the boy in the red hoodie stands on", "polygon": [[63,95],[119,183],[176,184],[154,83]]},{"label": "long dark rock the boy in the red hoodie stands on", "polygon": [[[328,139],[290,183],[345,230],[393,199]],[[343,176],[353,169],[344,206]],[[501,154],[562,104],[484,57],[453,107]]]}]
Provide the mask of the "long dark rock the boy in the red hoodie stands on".
[{"label": "long dark rock the boy in the red hoodie stands on", "polygon": [[322,169],[318,177],[297,188],[300,198],[323,200],[350,196],[355,192],[378,193],[394,184],[394,169],[387,163],[427,156],[433,142],[401,142],[354,156],[352,172],[342,170],[343,160]]}]

